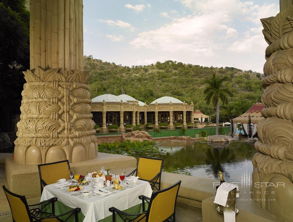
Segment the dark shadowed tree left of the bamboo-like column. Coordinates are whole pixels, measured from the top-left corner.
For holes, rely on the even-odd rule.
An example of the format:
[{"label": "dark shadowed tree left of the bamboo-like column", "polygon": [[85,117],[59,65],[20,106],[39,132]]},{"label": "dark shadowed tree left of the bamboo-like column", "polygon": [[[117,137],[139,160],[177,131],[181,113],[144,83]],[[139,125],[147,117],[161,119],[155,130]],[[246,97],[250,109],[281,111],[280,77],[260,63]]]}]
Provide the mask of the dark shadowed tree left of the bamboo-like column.
[{"label": "dark shadowed tree left of the bamboo-like column", "polygon": [[0,2],[0,132],[11,131],[20,113],[22,71],[29,69],[29,12],[25,0]]}]

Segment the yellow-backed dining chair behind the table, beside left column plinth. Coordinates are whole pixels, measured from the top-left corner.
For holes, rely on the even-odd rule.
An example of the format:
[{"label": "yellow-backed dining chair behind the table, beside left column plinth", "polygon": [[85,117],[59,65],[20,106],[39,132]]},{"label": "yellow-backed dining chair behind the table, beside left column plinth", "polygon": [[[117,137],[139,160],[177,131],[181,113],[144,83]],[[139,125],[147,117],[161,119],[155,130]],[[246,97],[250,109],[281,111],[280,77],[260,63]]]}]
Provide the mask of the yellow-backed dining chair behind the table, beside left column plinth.
[{"label": "yellow-backed dining chair behind the table, beside left column plinth", "polygon": [[68,160],[54,163],[39,164],[39,174],[41,183],[41,194],[46,185],[56,183],[61,178],[69,179],[70,165]]}]

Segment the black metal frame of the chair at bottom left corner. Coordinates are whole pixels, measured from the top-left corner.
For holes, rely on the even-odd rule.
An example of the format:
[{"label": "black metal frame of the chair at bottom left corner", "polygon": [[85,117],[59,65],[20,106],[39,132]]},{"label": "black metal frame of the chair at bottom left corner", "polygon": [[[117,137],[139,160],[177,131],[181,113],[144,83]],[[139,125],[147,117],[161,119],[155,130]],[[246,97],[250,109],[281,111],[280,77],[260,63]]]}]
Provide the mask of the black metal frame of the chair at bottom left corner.
[{"label": "black metal frame of the chair at bottom left corner", "polygon": [[[21,195],[18,195],[18,194],[15,194],[9,190],[7,190],[7,188],[4,186],[3,187],[3,190],[7,193],[9,193],[10,195],[14,196],[14,197],[17,197],[19,198],[23,204],[25,205],[25,208],[26,208],[26,211],[28,213],[28,217],[30,219],[31,222],[36,222],[36,221],[42,221],[43,219],[52,219],[52,218],[56,218],[58,221],[61,221],[61,222],[65,222],[67,221],[73,214],[74,214],[74,217],[75,217],[75,222],[78,222],[78,213],[81,211],[80,208],[75,208],[75,209],[72,209],[64,214],[60,214],[60,215],[55,215],[55,202],[57,201],[57,198],[56,197],[52,197],[51,199],[48,199],[48,200],[44,200],[38,204],[31,204],[31,205],[28,205],[28,202],[26,201],[26,198],[25,196],[21,196]],[[8,203],[9,203],[9,207],[11,209],[11,206],[10,206],[10,202],[9,202],[9,199],[5,193],[5,196],[8,200]],[[48,212],[45,212],[45,211],[42,211],[43,209],[45,209],[46,206],[48,206],[49,204],[51,204],[51,209],[52,209],[52,212],[51,213],[48,213]],[[32,207],[33,206],[33,207]],[[31,208],[30,208],[31,207]],[[12,213],[12,209],[11,209],[11,213]],[[46,214],[48,216],[46,217],[40,217],[39,215],[40,214]],[[66,218],[65,221],[62,221],[59,217],[61,216],[65,216],[69,214],[69,216]],[[13,214],[12,214],[12,220],[13,222],[15,222],[15,220],[13,219]]]}]

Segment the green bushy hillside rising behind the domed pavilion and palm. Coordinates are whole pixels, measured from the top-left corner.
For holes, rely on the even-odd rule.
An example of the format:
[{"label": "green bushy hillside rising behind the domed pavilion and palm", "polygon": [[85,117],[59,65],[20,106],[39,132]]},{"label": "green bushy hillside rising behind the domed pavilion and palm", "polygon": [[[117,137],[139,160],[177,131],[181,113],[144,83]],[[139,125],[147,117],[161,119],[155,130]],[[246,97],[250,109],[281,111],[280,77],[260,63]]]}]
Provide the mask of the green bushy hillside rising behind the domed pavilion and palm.
[{"label": "green bushy hillside rising behind the domed pavilion and palm", "polygon": [[[88,84],[91,87],[91,98],[107,91],[119,95],[123,90],[147,103],[162,96],[172,96],[188,104],[193,101],[195,109],[198,106],[207,115],[214,114],[215,110],[205,103],[205,80],[212,73],[228,76],[225,84],[233,92],[233,97],[230,98],[229,105],[221,106],[220,122],[228,121],[231,114],[236,117],[248,110],[263,93],[263,74],[233,67],[203,67],[176,61],[128,67],[85,56],[84,69],[90,71]],[[212,115],[212,121],[214,116]]]}]

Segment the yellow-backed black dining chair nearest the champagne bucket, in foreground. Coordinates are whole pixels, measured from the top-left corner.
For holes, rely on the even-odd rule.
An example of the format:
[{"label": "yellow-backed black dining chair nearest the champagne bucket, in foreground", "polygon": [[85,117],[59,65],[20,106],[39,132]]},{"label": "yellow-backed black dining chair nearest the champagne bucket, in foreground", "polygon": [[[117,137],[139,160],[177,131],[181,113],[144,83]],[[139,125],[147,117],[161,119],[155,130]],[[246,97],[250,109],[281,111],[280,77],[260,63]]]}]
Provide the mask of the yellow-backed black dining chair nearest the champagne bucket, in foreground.
[{"label": "yellow-backed black dining chair nearest the champagne bucket, in foreground", "polygon": [[[142,213],[139,214],[128,214],[115,207],[110,207],[109,211],[113,213],[113,222],[116,219],[115,213],[116,217],[118,215],[119,221],[122,219],[124,222],[175,222],[176,201],[180,184],[181,180],[171,187],[153,192],[151,198],[140,195]],[[145,210],[145,204],[148,204],[147,210]]]}]

